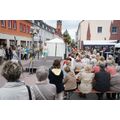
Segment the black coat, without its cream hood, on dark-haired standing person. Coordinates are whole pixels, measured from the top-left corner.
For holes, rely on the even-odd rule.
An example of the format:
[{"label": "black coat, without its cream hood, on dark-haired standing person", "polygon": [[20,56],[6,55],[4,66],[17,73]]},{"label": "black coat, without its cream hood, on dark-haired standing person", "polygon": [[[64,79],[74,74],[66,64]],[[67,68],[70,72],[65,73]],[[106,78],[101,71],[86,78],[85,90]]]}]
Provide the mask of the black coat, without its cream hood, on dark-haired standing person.
[{"label": "black coat, without its cream hood, on dark-haired standing person", "polygon": [[48,76],[50,83],[54,84],[57,88],[57,93],[60,93],[64,90],[64,84],[63,84],[63,71],[61,70],[61,73],[59,75],[55,75],[52,72],[52,69],[49,70],[49,76]]}]

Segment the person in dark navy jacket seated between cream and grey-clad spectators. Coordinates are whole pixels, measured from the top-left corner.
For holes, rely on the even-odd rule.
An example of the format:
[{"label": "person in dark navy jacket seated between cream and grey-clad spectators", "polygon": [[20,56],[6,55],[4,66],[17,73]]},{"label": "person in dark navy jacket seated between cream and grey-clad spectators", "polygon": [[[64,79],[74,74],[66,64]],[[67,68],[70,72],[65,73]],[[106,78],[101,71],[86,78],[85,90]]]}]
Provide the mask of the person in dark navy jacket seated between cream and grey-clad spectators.
[{"label": "person in dark navy jacket seated between cream and grey-clad spectators", "polygon": [[94,83],[94,89],[96,91],[99,91],[100,93],[97,93],[98,99],[103,99],[103,94],[106,91],[109,91],[110,89],[110,73],[105,71],[105,66],[100,65],[100,72],[95,73],[95,83]]}]

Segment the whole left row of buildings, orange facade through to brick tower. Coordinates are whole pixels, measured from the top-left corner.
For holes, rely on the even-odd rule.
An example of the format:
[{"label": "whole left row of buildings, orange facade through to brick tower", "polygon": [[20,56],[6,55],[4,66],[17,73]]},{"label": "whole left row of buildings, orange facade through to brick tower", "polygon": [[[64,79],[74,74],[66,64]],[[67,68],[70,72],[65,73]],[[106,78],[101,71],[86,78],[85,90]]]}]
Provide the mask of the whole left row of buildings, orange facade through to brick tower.
[{"label": "whole left row of buildings, orange facade through to brick tower", "polygon": [[42,43],[53,38],[62,38],[62,21],[58,20],[56,28],[43,20],[0,20],[0,45],[22,45],[31,47],[33,38],[31,27],[37,28],[34,36],[34,46],[39,48]]}]

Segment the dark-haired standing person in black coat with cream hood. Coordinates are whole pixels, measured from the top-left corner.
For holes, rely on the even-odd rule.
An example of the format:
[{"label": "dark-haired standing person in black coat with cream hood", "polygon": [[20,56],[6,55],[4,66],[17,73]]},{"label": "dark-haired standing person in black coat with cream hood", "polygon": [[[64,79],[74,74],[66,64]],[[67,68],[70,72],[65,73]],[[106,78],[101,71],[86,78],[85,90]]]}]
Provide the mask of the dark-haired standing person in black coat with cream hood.
[{"label": "dark-haired standing person in black coat with cream hood", "polygon": [[63,84],[63,71],[60,68],[60,60],[54,60],[53,66],[49,70],[50,83],[56,85],[57,96],[56,99],[63,100],[64,84]]}]

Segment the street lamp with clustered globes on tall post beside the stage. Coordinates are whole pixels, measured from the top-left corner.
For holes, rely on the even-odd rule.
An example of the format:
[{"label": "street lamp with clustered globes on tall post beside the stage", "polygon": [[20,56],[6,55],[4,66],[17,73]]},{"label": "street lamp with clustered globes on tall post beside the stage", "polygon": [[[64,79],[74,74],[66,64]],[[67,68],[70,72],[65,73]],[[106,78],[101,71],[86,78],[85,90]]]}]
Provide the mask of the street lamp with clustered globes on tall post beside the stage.
[{"label": "street lamp with clustered globes on tall post beside the stage", "polygon": [[[37,35],[38,29],[36,27],[31,27],[30,34],[32,35],[32,56],[30,60],[30,67],[31,67],[31,73],[33,74],[33,59],[35,58],[35,51],[34,51],[34,37]],[[30,72],[30,69],[29,69]]]}]

